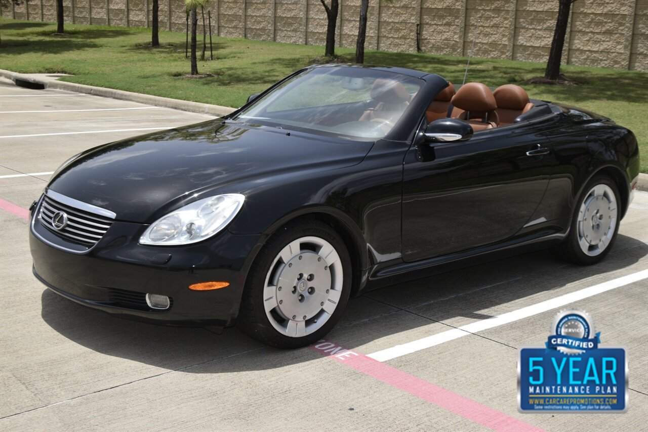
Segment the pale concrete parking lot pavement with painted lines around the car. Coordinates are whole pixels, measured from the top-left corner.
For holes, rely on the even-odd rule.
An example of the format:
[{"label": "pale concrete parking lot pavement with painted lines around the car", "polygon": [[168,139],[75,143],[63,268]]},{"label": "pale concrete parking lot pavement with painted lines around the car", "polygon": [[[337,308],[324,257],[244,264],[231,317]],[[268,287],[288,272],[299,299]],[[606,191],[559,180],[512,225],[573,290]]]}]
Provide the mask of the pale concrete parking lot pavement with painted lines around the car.
[{"label": "pale concrete parking lot pavement with painted lines around the car", "polygon": [[[366,293],[310,348],[237,328],[111,317],[31,271],[27,210],[67,158],[213,117],[0,84],[0,429],[639,431],[648,421],[648,193],[598,266],[520,255]],[[543,345],[559,310],[586,310],[627,347],[623,414],[523,414],[518,348]]]}]

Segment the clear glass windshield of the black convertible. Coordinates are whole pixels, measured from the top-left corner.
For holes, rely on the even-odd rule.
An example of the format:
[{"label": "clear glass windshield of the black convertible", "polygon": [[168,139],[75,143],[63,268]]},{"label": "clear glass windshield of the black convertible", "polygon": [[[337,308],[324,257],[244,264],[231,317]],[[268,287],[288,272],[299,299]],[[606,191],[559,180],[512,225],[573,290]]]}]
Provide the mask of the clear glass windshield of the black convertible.
[{"label": "clear glass windshield of the black convertible", "polygon": [[364,67],[318,67],[286,80],[235,119],[347,138],[379,139],[422,81]]}]

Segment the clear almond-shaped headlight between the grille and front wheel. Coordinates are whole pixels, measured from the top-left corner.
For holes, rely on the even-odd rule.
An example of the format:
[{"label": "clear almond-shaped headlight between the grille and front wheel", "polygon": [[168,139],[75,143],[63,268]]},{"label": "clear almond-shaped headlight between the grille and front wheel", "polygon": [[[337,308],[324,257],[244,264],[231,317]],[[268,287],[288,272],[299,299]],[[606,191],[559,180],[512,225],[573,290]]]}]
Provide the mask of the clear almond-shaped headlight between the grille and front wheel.
[{"label": "clear almond-shaped headlight between the grille and front wheel", "polygon": [[152,223],[139,238],[147,245],[182,245],[209,238],[234,219],[245,196],[210,196],[185,205]]}]

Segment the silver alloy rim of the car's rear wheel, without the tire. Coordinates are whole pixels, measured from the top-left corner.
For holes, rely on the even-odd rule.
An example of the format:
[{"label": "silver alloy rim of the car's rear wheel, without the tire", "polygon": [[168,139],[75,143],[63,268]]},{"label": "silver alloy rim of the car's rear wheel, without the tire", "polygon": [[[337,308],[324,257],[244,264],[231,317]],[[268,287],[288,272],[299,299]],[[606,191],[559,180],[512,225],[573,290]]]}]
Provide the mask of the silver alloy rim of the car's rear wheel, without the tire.
[{"label": "silver alloy rim of the car's rear wheel, without the tire", "polygon": [[616,196],[603,183],[587,192],[578,212],[578,243],[589,256],[605,251],[616,230]]}]

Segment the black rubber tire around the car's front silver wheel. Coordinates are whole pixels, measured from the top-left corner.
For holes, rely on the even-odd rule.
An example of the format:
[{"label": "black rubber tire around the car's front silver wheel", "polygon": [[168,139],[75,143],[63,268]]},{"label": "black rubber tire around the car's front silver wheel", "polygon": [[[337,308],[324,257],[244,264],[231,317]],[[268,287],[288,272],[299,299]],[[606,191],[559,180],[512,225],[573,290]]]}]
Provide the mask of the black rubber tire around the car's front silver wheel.
[{"label": "black rubber tire around the car's front silver wheel", "polygon": [[[319,240],[310,244],[304,241],[308,238]],[[300,245],[299,252],[292,255],[291,259],[285,260],[280,256],[280,253],[286,251],[288,245],[295,244]],[[321,258],[316,251],[323,251],[323,248],[328,246],[322,245],[322,249],[318,249],[319,244],[332,246],[339,260],[331,262],[330,267],[323,266],[326,264],[326,260]],[[313,251],[307,249],[309,247]],[[303,261],[297,261],[301,260],[300,254],[304,255]],[[321,259],[318,260],[318,258]],[[332,259],[334,258],[330,258],[329,255],[329,260]],[[288,264],[291,264],[290,269]],[[326,270],[320,269],[319,266]],[[303,279],[299,279],[300,276],[297,276],[294,286],[286,286],[282,291],[281,286],[286,283],[281,281],[289,280],[290,275],[293,275],[295,271],[300,271],[299,275],[304,273]],[[327,334],[344,312],[351,292],[351,271],[351,259],[347,248],[340,235],[329,225],[314,220],[289,223],[273,234],[259,251],[259,255],[251,266],[238,313],[237,326],[253,339],[272,347],[299,348],[310,345]],[[315,273],[318,276],[315,276]],[[306,274],[314,280],[308,279],[312,282],[307,282]],[[327,275],[329,279],[327,279]],[[267,287],[266,280],[268,280]],[[272,280],[275,280],[275,283],[272,283]],[[297,284],[303,283],[301,280],[304,280],[305,284],[297,288]],[[330,283],[327,284],[327,280]],[[317,282],[320,282],[321,285]],[[293,285],[292,282],[290,285]],[[313,290],[312,295],[311,290]],[[268,304],[276,304],[276,306],[266,312],[266,302],[272,298],[270,293],[276,298]],[[335,298],[336,301],[329,300],[328,295],[331,296],[331,299]],[[333,297],[333,295],[339,295],[339,298]],[[279,298],[286,299],[286,301],[282,301],[283,305],[279,305],[279,300],[277,300]],[[294,299],[299,299],[300,303],[295,302]],[[311,308],[308,312],[312,312],[314,308],[318,307],[318,304],[326,306],[321,307],[321,310],[312,316],[310,313],[308,316],[304,315],[307,319],[301,319],[301,317],[294,319],[295,315],[292,317],[286,315],[286,313],[294,313],[295,308],[303,313],[307,313],[306,309]],[[332,313],[327,313],[325,310],[327,307]],[[334,310],[330,310],[330,308],[334,308]],[[301,323],[303,323],[303,328]],[[288,326],[291,324],[294,326],[289,328]],[[295,335],[288,335],[297,328],[296,326],[299,326],[299,330],[295,330]],[[301,334],[301,330],[305,330],[308,334]]]}]

